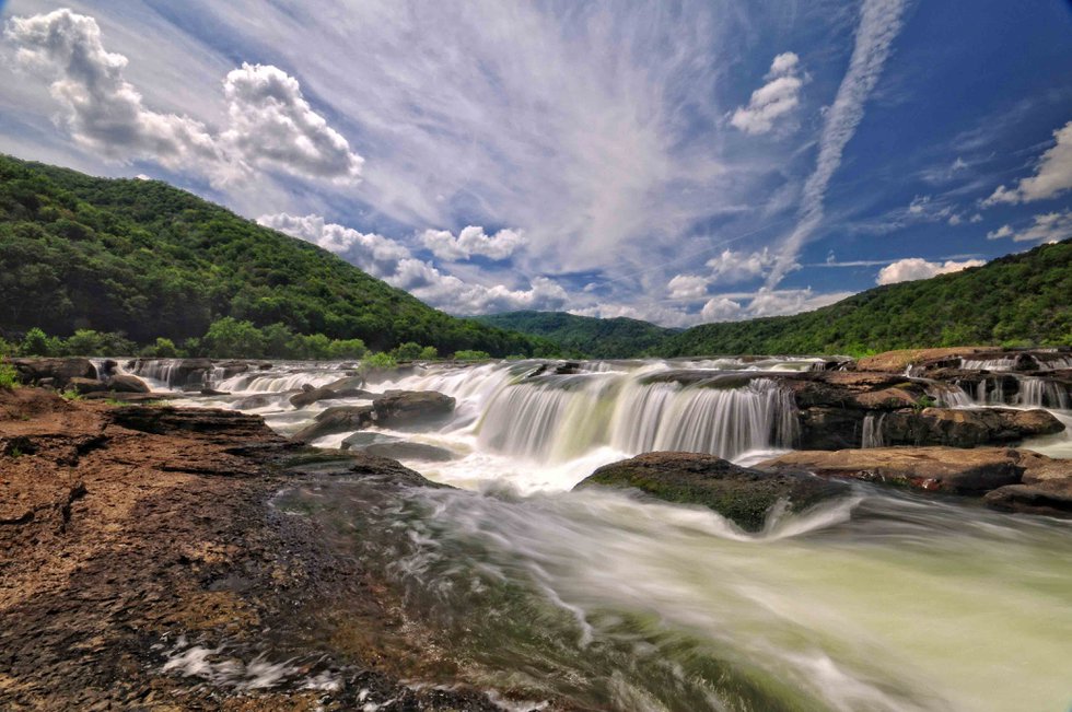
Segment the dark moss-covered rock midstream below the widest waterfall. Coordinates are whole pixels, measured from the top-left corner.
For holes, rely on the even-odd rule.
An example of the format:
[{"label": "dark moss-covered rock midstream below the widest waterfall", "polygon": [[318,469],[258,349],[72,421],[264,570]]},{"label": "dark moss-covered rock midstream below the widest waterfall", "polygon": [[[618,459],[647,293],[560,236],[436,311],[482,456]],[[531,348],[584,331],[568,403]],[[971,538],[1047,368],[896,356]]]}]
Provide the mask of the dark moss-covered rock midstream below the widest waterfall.
[{"label": "dark moss-covered rock midstream below the widest waterfall", "polygon": [[848,486],[797,472],[767,474],[714,455],[646,453],[604,465],[574,489],[594,485],[638,489],[668,502],[702,504],[741,528],[759,532],[781,501],[799,512],[848,492]]}]

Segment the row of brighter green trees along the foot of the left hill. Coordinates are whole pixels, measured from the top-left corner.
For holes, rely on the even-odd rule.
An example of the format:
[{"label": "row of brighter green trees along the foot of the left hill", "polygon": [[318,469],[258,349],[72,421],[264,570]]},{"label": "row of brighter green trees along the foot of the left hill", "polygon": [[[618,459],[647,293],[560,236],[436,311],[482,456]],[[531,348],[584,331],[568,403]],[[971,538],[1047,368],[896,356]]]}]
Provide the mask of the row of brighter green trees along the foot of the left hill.
[{"label": "row of brighter green trees along the foot of the left hill", "polygon": [[[294,334],[283,324],[259,328],[249,322],[232,317],[219,319],[200,338],[185,339],[176,345],[167,337],[138,345],[123,332],[102,332],[78,329],[68,338],[49,336],[40,328],[30,329],[21,339],[0,338],[0,357],[132,357],[212,359],[292,359],[302,361],[368,360],[372,365],[386,367],[398,361],[431,361],[440,358],[433,346],[416,341],[400,343],[389,351],[371,352],[361,339],[329,339],[323,334]],[[458,350],[444,354],[467,361],[491,358],[487,351]],[[513,357],[518,358],[518,357]]]}]

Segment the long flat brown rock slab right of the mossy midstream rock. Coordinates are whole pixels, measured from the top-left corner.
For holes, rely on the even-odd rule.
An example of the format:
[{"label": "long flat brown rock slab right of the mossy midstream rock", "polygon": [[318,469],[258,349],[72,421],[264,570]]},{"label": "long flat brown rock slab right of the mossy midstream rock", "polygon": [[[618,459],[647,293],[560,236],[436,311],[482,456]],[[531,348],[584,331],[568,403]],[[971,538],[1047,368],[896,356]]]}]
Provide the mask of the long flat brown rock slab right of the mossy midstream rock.
[{"label": "long flat brown rock slab right of the mossy midstream rock", "polygon": [[808,471],[935,492],[982,494],[1019,483],[1028,469],[1044,467],[1044,460],[1049,460],[1040,457],[1007,447],[872,447],[786,453],[756,465],[756,469],[772,474]]}]

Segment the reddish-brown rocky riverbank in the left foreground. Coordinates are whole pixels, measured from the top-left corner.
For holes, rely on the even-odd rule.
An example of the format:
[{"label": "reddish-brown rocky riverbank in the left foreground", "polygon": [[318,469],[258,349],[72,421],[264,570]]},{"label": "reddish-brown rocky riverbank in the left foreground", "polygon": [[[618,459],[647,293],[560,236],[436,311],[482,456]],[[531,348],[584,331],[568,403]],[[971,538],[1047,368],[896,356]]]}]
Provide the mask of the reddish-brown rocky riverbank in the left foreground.
[{"label": "reddish-brown rocky riverbank in the left foreground", "polygon": [[340,474],[429,485],[259,417],[0,389],[0,707],[499,709],[382,572],[271,505]]}]

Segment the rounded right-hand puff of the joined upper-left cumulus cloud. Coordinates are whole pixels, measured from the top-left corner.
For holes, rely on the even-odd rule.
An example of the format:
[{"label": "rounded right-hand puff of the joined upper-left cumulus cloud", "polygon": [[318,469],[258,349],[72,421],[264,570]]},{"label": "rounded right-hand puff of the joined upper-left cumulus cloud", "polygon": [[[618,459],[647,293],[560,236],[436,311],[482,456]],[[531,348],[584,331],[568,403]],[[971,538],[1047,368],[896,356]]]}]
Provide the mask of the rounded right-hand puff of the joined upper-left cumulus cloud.
[{"label": "rounded right-hand puff of the joined upper-left cumulus cloud", "polygon": [[228,74],[223,94],[230,128],[220,138],[247,163],[343,184],[360,176],[364,159],[313,110],[287,72],[243,63]]}]

